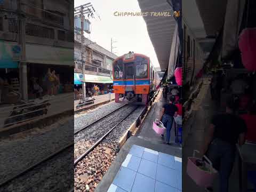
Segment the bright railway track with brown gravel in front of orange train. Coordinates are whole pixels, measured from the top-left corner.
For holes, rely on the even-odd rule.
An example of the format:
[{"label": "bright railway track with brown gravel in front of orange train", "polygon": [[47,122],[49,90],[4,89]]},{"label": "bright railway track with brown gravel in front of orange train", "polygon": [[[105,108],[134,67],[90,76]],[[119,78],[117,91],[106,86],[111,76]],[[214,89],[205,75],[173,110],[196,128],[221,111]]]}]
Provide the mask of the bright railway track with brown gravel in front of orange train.
[{"label": "bright railway track with brown gravel in front of orange train", "polygon": [[[158,92],[149,101],[148,106],[151,106],[157,94]],[[102,130],[104,130],[104,134],[101,135],[85,134],[86,139],[82,135],[80,139],[85,142],[78,140],[75,144],[74,191],[92,192],[95,190],[103,175],[114,161],[115,155],[118,153],[120,139],[126,133],[127,129],[137,121],[142,111],[145,111],[145,107],[147,106],[134,106],[130,110],[124,107],[124,109],[118,112],[119,115],[115,115],[116,113],[113,112],[106,119],[102,118],[102,121],[100,120],[94,125],[91,125],[90,128],[86,126],[87,128],[84,131],[79,132],[83,133],[90,130],[93,130],[93,132],[103,132]],[[115,111],[118,111],[118,109]],[[109,124],[108,121],[110,120],[114,121],[114,123]],[[94,129],[93,126],[100,126],[100,122],[105,126],[105,129]]]}]

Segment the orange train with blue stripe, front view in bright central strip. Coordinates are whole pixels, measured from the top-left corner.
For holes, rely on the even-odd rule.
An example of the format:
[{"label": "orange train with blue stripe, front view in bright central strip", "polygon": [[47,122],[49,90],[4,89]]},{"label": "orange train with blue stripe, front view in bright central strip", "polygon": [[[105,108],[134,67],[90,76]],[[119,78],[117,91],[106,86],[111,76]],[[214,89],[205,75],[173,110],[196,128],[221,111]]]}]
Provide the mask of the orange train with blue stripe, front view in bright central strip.
[{"label": "orange train with blue stripe, front view in bright central strip", "polygon": [[115,102],[147,105],[159,88],[158,76],[149,57],[129,52],[113,61]]}]

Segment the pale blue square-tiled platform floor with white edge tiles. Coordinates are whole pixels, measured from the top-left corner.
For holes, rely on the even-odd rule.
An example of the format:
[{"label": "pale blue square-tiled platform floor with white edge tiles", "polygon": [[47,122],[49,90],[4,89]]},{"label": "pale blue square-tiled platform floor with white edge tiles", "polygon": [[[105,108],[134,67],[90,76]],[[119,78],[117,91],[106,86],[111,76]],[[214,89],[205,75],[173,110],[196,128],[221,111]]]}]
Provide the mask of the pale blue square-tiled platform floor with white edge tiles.
[{"label": "pale blue square-tiled platform floor with white edge tiles", "polygon": [[108,192],[179,192],[182,160],[133,145]]}]

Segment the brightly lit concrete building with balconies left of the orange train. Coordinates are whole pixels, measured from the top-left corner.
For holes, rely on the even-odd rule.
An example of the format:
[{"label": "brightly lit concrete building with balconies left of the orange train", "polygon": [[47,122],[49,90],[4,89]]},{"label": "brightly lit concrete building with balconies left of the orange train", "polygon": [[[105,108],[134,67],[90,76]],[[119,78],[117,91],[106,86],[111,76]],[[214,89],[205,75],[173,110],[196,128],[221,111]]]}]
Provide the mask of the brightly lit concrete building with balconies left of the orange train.
[{"label": "brightly lit concrete building with balconies left of the orange train", "polygon": [[[75,58],[75,78],[83,74],[81,81],[75,81],[77,89],[82,89],[82,81],[86,84],[86,89],[92,86],[100,86],[100,90],[106,91],[113,84],[112,62],[117,55],[111,53],[90,39],[85,38],[81,44],[81,35],[75,34],[74,46]],[[84,68],[84,69],[83,69]],[[82,91],[80,91],[82,92]],[[86,95],[90,95],[86,93]]]}]

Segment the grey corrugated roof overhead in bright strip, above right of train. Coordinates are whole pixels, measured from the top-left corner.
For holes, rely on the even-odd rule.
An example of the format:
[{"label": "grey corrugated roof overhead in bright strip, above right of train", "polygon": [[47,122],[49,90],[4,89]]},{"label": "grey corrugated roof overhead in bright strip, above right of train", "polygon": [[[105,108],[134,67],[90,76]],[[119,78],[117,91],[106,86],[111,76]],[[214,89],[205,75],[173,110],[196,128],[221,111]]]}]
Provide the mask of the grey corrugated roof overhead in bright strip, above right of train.
[{"label": "grey corrugated roof overhead in bright strip, above right of train", "polygon": [[[170,12],[171,17],[143,17],[150,40],[154,46],[162,70],[168,67],[172,36],[176,21],[172,17],[172,7],[166,0],[138,0],[141,12]],[[150,55],[149,55],[150,57]]]}]

